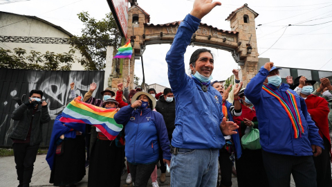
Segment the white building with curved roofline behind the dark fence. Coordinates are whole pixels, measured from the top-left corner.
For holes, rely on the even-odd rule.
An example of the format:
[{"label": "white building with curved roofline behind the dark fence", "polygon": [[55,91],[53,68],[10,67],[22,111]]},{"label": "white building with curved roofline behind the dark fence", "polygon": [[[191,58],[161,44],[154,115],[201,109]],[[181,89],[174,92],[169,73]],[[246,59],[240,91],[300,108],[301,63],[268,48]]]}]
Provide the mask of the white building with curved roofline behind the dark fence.
[{"label": "white building with curved roofline behind the dark fence", "polygon": [[[50,22],[35,16],[17,15],[10,12],[0,11],[0,35],[20,36],[20,37],[73,37],[71,33],[60,26],[55,26]],[[54,53],[68,53],[70,44],[37,44],[37,43],[17,43],[0,42],[0,46],[13,51],[13,48],[24,48],[27,55],[30,51],[38,51],[45,54],[46,51]],[[82,58],[80,51],[75,52],[75,63],[72,70],[84,70],[84,67],[77,62],[77,58]]]}]

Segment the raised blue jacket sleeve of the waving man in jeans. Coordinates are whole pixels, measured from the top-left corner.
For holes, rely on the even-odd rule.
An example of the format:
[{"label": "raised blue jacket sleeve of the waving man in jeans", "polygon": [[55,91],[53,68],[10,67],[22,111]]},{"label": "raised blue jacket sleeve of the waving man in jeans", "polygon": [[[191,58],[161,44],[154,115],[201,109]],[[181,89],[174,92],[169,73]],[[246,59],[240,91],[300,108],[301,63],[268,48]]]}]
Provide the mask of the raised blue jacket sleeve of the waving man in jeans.
[{"label": "raised blue jacket sleeve of the waving man in jeans", "polygon": [[187,15],[178,27],[174,42],[167,52],[168,80],[173,91],[185,87],[189,77],[185,74],[184,54],[192,38],[192,34],[199,28],[201,19]]}]

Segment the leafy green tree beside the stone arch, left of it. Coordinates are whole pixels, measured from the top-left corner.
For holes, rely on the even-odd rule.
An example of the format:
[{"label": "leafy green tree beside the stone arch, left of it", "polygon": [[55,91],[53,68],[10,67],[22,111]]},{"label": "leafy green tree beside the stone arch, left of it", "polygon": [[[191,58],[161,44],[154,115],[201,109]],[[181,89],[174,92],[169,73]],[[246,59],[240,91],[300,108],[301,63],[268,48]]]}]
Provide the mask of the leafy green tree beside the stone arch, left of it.
[{"label": "leafy green tree beside the stone arch, left of it", "polygon": [[[121,35],[116,26],[116,20],[111,12],[106,18],[98,21],[90,17],[88,12],[80,12],[78,18],[83,22],[85,28],[82,29],[82,36],[72,37],[73,46],[80,50],[86,59],[81,59],[80,63],[86,70],[103,70],[105,68],[107,46],[119,48],[121,46]],[[95,41],[89,45],[84,41]],[[102,42],[105,41],[105,42]]]}]

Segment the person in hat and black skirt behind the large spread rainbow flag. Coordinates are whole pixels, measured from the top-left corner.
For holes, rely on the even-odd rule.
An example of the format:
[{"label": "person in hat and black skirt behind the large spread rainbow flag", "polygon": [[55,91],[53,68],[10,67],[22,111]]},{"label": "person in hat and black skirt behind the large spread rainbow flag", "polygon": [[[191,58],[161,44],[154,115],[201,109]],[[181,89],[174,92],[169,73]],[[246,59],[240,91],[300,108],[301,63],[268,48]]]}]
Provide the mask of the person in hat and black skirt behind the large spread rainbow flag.
[{"label": "person in hat and black skirt behind the large spread rainbow flag", "polygon": [[[114,98],[108,98],[102,107],[111,109],[118,107]],[[98,139],[91,150],[88,186],[120,186],[123,155],[123,132],[115,140],[109,141],[98,128]]]}]

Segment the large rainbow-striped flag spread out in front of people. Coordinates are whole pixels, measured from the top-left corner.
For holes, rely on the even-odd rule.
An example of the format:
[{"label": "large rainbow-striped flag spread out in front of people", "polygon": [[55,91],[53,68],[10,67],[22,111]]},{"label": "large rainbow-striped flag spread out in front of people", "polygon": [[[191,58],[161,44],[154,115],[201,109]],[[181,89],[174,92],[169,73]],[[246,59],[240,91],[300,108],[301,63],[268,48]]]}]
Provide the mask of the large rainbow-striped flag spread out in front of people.
[{"label": "large rainbow-striped flag spread out in front of people", "polygon": [[71,101],[62,111],[62,118],[59,121],[63,123],[85,123],[97,127],[107,139],[116,139],[116,136],[122,130],[122,125],[114,121],[113,116],[116,109],[105,109],[95,107],[81,101],[77,97]]}]

